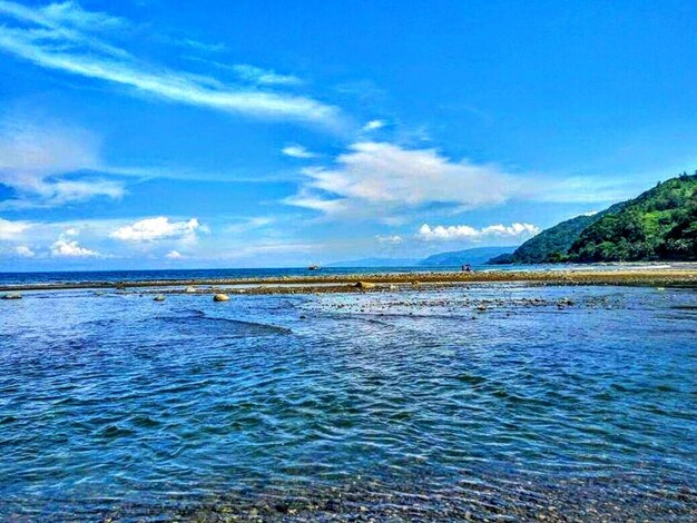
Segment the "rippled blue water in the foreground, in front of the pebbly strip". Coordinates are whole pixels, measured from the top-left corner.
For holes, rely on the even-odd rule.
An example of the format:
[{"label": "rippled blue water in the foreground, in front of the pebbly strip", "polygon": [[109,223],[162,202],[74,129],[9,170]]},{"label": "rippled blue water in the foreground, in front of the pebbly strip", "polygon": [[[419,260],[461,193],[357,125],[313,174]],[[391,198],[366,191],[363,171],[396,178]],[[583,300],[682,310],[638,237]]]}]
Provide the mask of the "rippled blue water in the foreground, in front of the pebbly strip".
[{"label": "rippled blue water in the foreground, in front of the pebbly strip", "polygon": [[697,294],[0,300],[0,520],[694,521]]}]

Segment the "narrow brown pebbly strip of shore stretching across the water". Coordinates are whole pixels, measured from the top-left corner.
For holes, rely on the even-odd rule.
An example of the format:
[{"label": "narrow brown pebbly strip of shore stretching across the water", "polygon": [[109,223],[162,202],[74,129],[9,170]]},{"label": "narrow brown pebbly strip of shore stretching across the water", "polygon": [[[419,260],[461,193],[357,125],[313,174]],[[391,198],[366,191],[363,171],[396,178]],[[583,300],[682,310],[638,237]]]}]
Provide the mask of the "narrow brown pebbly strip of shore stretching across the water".
[{"label": "narrow brown pebbly strip of shore stretching across the water", "polygon": [[[359,283],[367,285],[356,285]],[[550,270],[487,270],[475,273],[382,273],[284,276],[257,278],[199,278],[160,279],[132,282],[67,282],[46,284],[0,285],[0,292],[17,293],[32,290],[77,290],[77,289],[147,289],[167,287],[195,287],[187,294],[210,294],[229,292],[236,294],[305,294],[305,293],[351,293],[373,290],[400,290],[433,288],[438,286],[467,286],[488,283],[521,283],[530,285],[656,285],[697,287],[697,266],[670,268],[618,268],[596,267],[593,269],[550,269]],[[168,294],[186,293],[187,289],[167,289]]]}]

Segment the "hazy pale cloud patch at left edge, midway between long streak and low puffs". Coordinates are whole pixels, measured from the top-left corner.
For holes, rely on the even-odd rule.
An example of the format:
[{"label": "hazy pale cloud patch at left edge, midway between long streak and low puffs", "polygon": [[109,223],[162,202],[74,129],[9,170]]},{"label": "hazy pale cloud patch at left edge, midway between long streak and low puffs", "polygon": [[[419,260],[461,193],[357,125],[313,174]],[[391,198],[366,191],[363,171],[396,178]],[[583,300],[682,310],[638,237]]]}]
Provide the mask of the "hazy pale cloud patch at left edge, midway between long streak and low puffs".
[{"label": "hazy pale cloud patch at left edge, midway between long streak and low puffs", "polygon": [[97,175],[66,175],[102,168],[99,140],[76,127],[38,126],[7,117],[0,122],[0,184],[16,197],[3,207],[53,206],[95,197],[119,198],[121,182]]}]

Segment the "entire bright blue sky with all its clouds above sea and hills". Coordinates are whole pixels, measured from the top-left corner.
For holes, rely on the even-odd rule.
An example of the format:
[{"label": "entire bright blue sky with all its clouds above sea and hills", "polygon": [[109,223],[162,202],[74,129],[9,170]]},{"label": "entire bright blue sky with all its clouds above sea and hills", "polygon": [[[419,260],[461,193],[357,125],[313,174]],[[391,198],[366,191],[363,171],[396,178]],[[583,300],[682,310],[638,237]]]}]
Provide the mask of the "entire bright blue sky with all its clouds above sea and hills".
[{"label": "entire bright blue sky with all its clouds above sea and hills", "polygon": [[697,167],[691,1],[0,0],[0,269],[518,245]]}]

